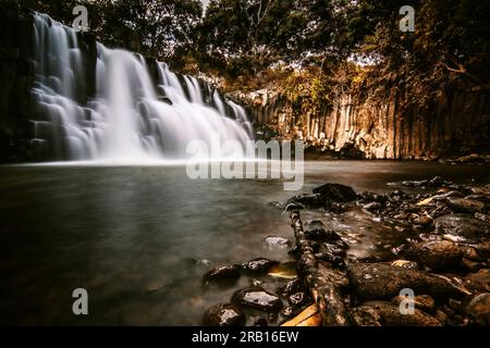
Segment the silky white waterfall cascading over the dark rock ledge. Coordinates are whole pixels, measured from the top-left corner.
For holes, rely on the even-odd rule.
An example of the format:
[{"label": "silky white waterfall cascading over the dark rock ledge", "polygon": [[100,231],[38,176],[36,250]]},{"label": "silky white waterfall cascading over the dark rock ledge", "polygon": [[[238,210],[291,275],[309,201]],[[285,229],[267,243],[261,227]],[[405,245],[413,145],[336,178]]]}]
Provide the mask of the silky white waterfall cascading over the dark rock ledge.
[{"label": "silky white waterfall cascading over the dark rock ledge", "polygon": [[[243,144],[252,127],[238,104],[226,100],[192,76],[157,63],[155,88],[145,60],[125,50],[97,44],[96,91],[87,96],[83,48],[71,28],[36,14],[34,24],[36,76],[33,97],[38,146],[56,159],[138,161],[188,159],[192,140],[211,145]],[[207,88],[205,98],[201,88]],[[225,153],[215,153],[221,160]]]}]

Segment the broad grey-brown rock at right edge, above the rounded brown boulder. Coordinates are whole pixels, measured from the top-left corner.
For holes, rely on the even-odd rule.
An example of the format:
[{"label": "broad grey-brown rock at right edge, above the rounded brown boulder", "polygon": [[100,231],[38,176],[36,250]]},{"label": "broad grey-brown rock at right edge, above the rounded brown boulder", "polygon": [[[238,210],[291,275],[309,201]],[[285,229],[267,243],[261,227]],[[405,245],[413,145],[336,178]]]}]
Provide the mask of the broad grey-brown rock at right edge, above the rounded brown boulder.
[{"label": "broad grey-brown rock at right edge, above the rounded brown boulder", "polygon": [[444,215],[434,220],[436,231],[439,234],[462,236],[467,239],[487,239],[490,234],[490,224],[468,215]]}]

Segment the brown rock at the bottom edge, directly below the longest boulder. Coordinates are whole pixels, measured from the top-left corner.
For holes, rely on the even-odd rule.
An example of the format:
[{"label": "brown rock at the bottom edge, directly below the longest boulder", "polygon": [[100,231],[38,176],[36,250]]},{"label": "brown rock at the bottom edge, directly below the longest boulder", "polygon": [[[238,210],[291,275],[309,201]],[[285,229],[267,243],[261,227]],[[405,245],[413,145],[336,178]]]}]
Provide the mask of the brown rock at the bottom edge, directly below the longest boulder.
[{"label": "brown rock at the bottom edge, directly below the longest boulder", "polygon": [[[415,309],[413,314],[402,314],[399,306],[384,301],[370,301],[356,308],[360,324],[373,322],[383,326],[440,326],[433,316]],[[367,319],[367,320],[365,320]]]}]

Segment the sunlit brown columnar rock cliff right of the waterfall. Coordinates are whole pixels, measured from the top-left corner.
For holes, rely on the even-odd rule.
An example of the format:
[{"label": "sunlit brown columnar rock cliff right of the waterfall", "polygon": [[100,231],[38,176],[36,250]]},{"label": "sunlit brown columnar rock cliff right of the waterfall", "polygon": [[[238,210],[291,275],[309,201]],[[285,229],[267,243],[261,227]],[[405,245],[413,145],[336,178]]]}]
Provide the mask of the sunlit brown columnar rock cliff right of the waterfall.
[{"label": "sunlit brown columnar rock cliff right of the waterfall", "polygon": [[285,138],[341,151],[354,146],[369,159],[433,159],[490,150],[488,92],[457,86],[425,108],[402,108],[408,94],[382,98],[358,90],[341,95],[331,110],[313,117],[295,114],[281,94],[261,90],[240,99],[258,124]]}]

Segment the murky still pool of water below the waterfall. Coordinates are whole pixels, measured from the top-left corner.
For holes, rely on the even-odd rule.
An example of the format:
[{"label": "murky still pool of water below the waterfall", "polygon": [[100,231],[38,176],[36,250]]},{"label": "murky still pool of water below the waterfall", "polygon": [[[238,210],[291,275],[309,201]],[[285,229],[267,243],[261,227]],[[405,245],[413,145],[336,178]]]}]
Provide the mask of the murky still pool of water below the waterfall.
[{"label": "murky still pool of water below the waterfall", "polygon": [[[384,192],[388,182],[441,175],[490,178],[488,166],[388,161],[306,162],[302,191],[336,182]],[[289,260],[261,240],[293,240],[287,214],[268,204],[297,192],[277,179],[197,179],[185,167],[0,166],[0,323],[199,325],[236,287],[206,289],[205,268],[256,257]],[[344,231],[352,254],[389,247],[392,232],[359,211],[305,212]],[[250,279],[243,277],[240,286]],[[85,288],[89,314],[72,313]]]}]

